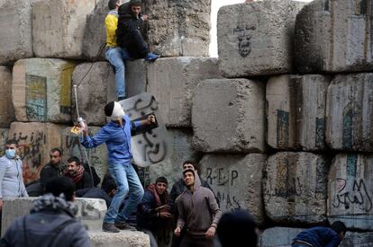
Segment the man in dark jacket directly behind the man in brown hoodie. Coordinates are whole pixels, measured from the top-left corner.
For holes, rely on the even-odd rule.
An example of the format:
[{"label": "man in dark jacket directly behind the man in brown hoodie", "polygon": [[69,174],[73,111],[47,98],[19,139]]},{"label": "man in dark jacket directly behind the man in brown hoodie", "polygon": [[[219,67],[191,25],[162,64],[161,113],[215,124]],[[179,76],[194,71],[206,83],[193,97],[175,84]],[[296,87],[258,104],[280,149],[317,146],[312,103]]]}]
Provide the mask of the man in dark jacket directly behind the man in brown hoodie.
[{"label": "man in dark jacket directly behind the man in brown hoodie", "polygon": [[[197,172],[196,169],[196,163],[194,161],[185,161],[183,163],[183,172],[187,170],[193,170],[194,172]],[[205,187],[211,191],[214,190],[211,189],[210,185],[207,181],[200,178],[201,181],[201,187]],[[187,187],[185,186],[184,179],[180,178],[177,182],[174,183],[172,186],[171,192],[169,193],[169,205],[171,206],[172,213],[174,215],[174,218],[177,219],[177,206],[176,206],[176,198],[184,191]],[[215,196],[216,198],[216,196]],[[219,205],[219,200],[216,198],[216,202]],[[174,226],[176,226],[176,221],[174,222]],[[187,227],[184,227],[181,231],[179,236],[176,236],[175,234],[172,236],[172,247],[178,247],[183,240],[184,235],[186,234]]]}]

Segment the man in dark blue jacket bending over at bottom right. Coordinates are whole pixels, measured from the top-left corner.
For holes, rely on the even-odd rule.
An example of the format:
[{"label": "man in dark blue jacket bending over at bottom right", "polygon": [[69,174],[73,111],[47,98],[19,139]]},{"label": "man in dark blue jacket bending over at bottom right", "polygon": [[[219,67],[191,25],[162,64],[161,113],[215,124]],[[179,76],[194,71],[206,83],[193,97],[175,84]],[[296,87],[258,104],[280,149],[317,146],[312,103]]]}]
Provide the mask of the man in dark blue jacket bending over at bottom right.
[{"label": "man in dark blue jacket bending over at bottom right", "polygon": [[331,227],[317,226],[296,235],[292,247],[337,247],[346,234],[347,228],[341,221]]}]

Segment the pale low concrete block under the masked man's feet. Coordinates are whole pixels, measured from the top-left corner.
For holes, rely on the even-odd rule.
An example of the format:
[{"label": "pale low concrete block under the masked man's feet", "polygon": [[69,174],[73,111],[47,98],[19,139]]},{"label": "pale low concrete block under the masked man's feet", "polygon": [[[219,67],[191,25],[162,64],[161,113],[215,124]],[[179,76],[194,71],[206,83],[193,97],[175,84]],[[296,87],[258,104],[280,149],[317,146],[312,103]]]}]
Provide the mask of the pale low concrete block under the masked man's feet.
[{"label": "pale low concrete block under the masked man's feet", "polygon": [[148,234],[133,231],[120,233],[105,233],[103,231],[88,231],[91,247],[150,247]]}]

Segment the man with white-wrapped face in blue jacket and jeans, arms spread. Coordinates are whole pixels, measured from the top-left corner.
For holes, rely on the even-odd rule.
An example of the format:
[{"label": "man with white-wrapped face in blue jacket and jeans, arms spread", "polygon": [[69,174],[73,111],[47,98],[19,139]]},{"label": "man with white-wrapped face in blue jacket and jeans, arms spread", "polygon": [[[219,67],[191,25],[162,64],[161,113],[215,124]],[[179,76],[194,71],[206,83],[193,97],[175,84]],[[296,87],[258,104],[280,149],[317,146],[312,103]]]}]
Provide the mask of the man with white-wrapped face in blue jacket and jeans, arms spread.
[{"label": "man with white-wrapped face in blue jacket and jeans, arms spread", "polygon": [[[111,101],[105,105],[105,115],[110,117],[112,121],[101,128],[94,137],[88,136],[86,128],[82,129],[82,145],[86,148],[106,144],[108,170],[117,185],[112,203],[105,214],[103,231],[118,233],[119,229],[135,230],[126,221],[129,220],[132,212],[141,202],[144,190],[130,162],[132,158],[131,132],[141,126],[155,123],[155,116],[150,115],[147,119],[132,122],[124,114],[121,104],[116,101]],[[119,207],[129,191],[131,191],[130,198],[123,210],[118,213]]]}]

